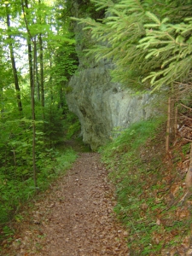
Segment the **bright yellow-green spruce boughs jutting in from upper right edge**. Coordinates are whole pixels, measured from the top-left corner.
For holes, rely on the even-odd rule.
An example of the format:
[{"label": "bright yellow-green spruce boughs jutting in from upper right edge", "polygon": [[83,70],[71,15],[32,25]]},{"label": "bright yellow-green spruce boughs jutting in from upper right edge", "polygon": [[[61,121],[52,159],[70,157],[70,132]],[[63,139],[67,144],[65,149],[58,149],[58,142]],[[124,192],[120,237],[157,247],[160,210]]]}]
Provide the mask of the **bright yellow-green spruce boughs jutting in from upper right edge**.
[{"label": "bright yellow-green spruce boughs jutting in from upper right edge", "polygon": [[148,49],[145,59],[158,61],[160,70],[151,72],[143,81],[149,79],[154,90],[160,89],[162,84],[188,82],[191,70],[192,19],[171,24],[168,18],[159,20],[149,12],[146,15],[152,22],[144,25],[146,37],[140,40],[138,48]]}]

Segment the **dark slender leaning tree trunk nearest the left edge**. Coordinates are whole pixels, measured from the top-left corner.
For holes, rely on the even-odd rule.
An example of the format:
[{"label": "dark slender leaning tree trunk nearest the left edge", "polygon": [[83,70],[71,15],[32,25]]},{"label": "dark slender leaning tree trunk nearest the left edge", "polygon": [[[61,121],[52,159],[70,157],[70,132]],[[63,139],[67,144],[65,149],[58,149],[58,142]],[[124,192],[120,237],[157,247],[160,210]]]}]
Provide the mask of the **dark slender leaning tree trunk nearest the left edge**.
[{"label": "dark slender leaning tree trunk nearest the left edge", "polygon": [[[8,30],[10,28],[10,16],[9,16],[9,7],[6,5],[6,12],[7,12],[7,26]],[[9,33],[9,32],[8,32]],[[16,97],[17,97],[17,105],[20,113],[22,112],[22,103],[20,99],[20,85],[19,85],[19,79],[18,79],[18,74],[17,74],[17,68],[15,65],[15,55],[14,55],[14,48],[13,44],[11,43],[12,37],[9,34],[9,51],[10,51],[10,58],[11,58],[11,64],[12,64],[12,69],[14,73],[14,83],[15,83],[15,90],[16,90]]]}]

